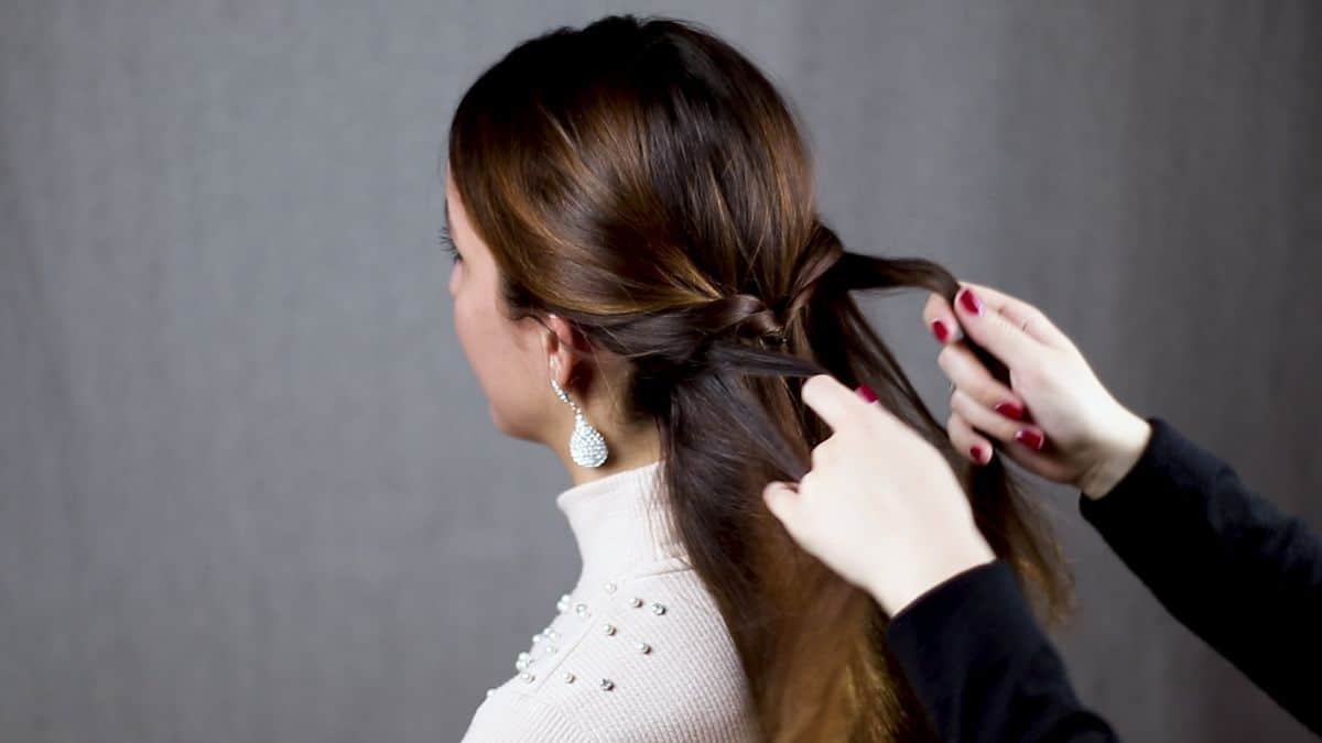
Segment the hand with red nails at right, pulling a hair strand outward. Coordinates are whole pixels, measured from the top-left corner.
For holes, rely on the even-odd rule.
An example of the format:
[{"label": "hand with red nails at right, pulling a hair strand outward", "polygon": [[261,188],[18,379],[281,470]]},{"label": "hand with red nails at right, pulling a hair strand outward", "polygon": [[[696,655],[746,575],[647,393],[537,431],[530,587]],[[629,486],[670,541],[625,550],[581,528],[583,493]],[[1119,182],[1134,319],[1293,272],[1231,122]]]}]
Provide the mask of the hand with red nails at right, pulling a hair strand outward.
[{"label": "hand with red nails at right, pulling a hair strand outward", "polygon": [[[947,432],[977,464],[992,459],[988,436],[1048,480],[1091,498],[1107,494],[1142,455],[1149,423],[1120,405],[1073,342],[1038,308],[982,284],[960,282],[956,307],[928,297],[923,320],[945,348],[937,364],[954,383]],[[1010,386],[973,354],[972,337],[1010,370]]]}]

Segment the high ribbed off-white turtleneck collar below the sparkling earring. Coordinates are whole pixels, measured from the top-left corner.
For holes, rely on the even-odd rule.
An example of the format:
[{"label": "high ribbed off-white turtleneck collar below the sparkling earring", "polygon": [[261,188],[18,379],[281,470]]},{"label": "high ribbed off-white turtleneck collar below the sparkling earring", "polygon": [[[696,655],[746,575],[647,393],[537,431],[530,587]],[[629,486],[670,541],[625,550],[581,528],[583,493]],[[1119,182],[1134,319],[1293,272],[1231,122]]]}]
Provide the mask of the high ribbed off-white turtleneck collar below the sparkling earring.
[{"label": "high ribbed off-white turtleneck collar below the sparkling earring", "polygon": [[555,497],[583,558],[584,579],[682,557],[683,547],[660,488],[661,460],[574,485]]}]

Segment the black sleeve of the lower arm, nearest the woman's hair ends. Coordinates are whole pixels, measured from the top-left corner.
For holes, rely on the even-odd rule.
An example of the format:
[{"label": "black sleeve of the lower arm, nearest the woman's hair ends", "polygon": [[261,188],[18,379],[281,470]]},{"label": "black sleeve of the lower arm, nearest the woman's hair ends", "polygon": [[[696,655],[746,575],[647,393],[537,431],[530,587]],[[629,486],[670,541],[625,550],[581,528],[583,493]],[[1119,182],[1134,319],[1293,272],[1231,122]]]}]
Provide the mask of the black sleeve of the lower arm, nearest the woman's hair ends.
[{"label": "black sleeve of the lower arm, nearest the woman's hair ends", "polygon": [[1075,697],[999,559],[915,599],[891,619],[886,641],[943,740],[1116,740]]}]

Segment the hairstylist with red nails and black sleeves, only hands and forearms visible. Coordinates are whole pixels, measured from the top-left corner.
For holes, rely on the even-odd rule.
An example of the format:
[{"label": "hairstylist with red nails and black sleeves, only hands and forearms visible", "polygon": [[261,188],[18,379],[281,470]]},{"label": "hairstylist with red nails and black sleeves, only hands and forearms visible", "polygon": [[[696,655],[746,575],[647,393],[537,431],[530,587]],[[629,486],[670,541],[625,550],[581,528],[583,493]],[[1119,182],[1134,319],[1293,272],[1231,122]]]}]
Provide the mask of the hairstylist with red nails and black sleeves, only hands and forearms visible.
[{"label": "hairstylist with red nails and black sleeves, only hands and forearms visible", "polygon": [[[1165,419],[1117,402],[1032,305],[965,284],[953,307],[932,296],[924,319],[944,344],[956,448],[982,464],[995,442],[1026,469],[1077,488],[1083,517],[1175,619],[1322,734],[1309,676],[1322,661],[1322,535]],[[970,353],[965,331],[1013,385]],[[763,494],[805,549],[894,616],[887,640],[941,735],[1114,740],[972,528],[941,453],[830,377],[809,379],[804,402],[834,434],[797,485],[773,483]],[[1022,443],[1030,420],[1051,446]]]}]

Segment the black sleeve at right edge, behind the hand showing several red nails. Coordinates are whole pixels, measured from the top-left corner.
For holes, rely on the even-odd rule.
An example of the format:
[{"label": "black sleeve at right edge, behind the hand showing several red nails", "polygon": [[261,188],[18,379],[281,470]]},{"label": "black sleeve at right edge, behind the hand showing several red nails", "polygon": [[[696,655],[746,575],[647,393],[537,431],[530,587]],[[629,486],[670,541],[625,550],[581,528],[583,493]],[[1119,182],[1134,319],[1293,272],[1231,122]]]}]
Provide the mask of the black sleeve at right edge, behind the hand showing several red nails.
[{"label": "black sleeve at right edge, behind the hand showing several red nails", "polygon": [[1322,734],[1322,538],[1161,418],[1079,510],[1186,627]]}]

